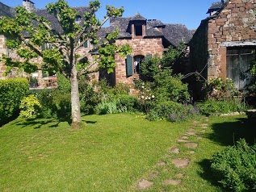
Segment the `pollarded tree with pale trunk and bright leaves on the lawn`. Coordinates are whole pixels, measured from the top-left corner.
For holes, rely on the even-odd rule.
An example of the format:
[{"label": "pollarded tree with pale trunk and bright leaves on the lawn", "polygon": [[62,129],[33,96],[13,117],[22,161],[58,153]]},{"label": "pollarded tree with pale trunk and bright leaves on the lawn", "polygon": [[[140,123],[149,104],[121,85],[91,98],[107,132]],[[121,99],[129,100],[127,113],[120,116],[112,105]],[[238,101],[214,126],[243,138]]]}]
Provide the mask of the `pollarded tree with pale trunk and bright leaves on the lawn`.
[{"label": "pollarded tree with pale trunk and bright leaves on the lawn", "polygon": [[[110,17],[120,17],[124,8],[106,6],[107,15],[102,22],[96,18],[95,13],[99,10],[98,0],[90,2],[89,9],[84,13],[84,23],[75,22],[78,11],[69,7],[64,0],[58,0],[46,6],[49,14],[54,15],[61,25],[61,31],[55,31],[51,23],[44,17],[39,17],[33,12],[21,6],[15,8],[15,18],[2,17],[0,19],[0,34],[6,35],[6,46],[15,49],[20,60],[8,56],[2,56],[6,64],[6,73],[13,68],[23,69],[27,73],[33,73],[38,69],[53,70],[60,72],[69,79],[71,84],[71,114],[72,125],[78,127],[81,122],[81,111],[78,93],[78,76],[89,73],[95,62],[99,67],[107,69],[111,73],[115,68],[115,53],[121,56],[128,54],[131,49],[128,45],[118,47],[114,44],[118,36],[118,29],[107,35],[104,42],[99,44],[97,31]],[[26,36],[30,38],[27,39]],[[94,61],[89,61],[91,52],[78,55],[78,49],[90,41],[94,48],[99,51],[98,56],[93,56]],[[42,44],[50,44],[50,49],[41,50]],[[43,58],[44,64],[33,62],[35,58]],[[34,60],[35,61],[35,60]]]}]

